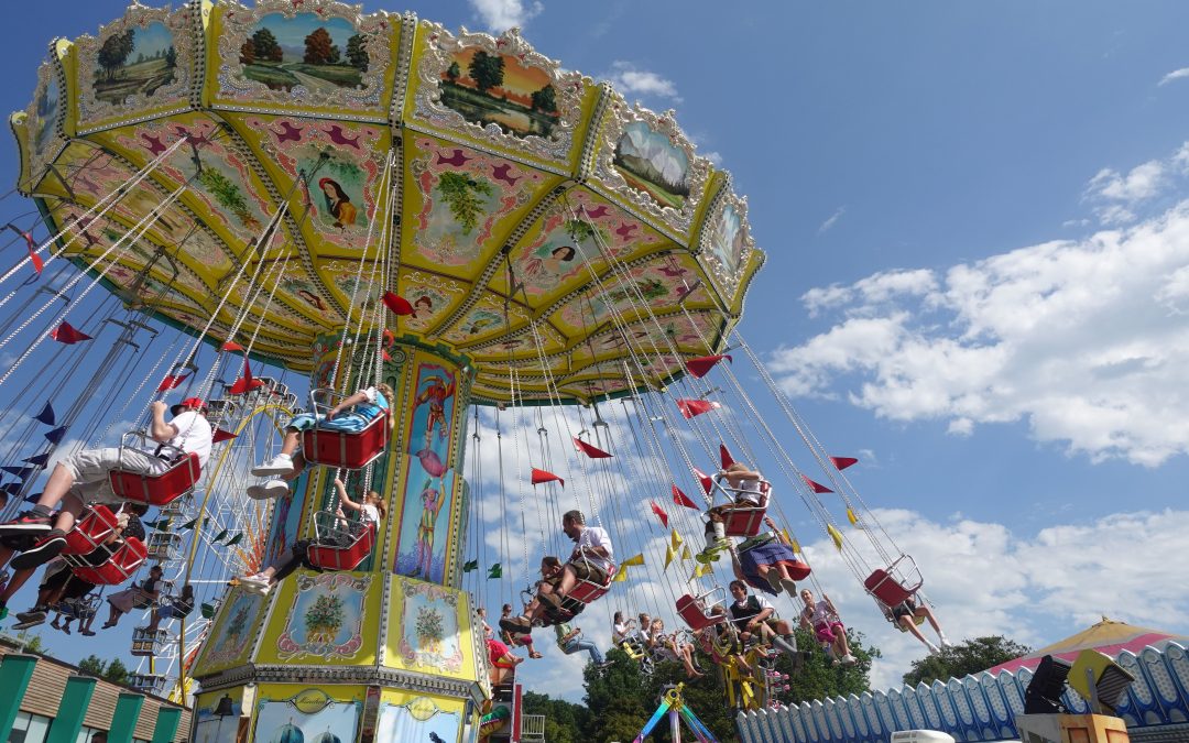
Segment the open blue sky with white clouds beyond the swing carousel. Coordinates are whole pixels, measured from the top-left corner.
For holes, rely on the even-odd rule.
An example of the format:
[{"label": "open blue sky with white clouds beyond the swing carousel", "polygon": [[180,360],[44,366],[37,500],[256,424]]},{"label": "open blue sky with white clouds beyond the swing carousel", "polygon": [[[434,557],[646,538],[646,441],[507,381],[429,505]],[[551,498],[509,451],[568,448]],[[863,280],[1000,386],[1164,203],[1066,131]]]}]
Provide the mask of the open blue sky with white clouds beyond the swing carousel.
[{"label": "open blue sky with white clouds beyond the swing carousel", "polygon": [[[50,38],[124,6],[70,7],[11,12],[26,82],[8,111]],[[853,480],[895,509],[951,637],[1043,646],[1100,613],[1189,634],[1189,5],[407,10],[522,25],[566,68],[675,108],[732,174],[768,254],[742,333],[826,447],[863,459]],[[13,160],[0,146],[0,171]],[[883,648],[876,682],[897,680],[923,648],[819,554],[844,619]],[[527,682],[580,695],[555,655]]]}]

